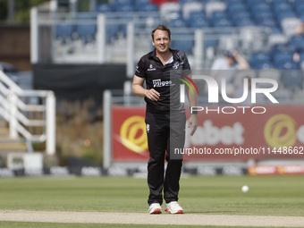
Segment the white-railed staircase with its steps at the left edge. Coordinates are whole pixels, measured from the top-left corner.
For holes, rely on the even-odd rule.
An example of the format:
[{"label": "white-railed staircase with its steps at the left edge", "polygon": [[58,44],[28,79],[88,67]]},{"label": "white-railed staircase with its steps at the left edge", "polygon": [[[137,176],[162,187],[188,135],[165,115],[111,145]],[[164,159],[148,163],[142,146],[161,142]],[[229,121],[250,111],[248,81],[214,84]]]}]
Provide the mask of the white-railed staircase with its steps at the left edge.
[{"label": "white-railed staircase with its steps at the left edge", "polygon": [[54,93],[21,89],[0,69],[0,167],[9,154],[33,152],[32,143],[55,154]]}]

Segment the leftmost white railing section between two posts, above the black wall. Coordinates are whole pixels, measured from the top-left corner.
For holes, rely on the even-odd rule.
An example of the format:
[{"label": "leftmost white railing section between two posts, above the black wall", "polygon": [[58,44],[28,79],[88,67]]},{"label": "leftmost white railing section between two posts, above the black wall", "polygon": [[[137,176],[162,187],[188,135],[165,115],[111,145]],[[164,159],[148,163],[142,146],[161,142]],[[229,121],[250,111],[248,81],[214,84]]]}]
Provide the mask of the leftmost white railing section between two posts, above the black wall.
[{"label": "leftmost white railing section between two posts, above the black wall", "polygon": [[[92,13],[95,15],[96,13]],[[64,18],[64,19],[63,19]],[[67,42],[68,44],[57,44],[55,38],[55,27],[63,22],[72,23],[75,25],[97,25],[96,37],[92,38],[86,46],[82,44],[80,39],[73,40],[74,42]],[[38,8],[34,7],[30,10],[30,62],[41,63],[41,53],[43,50],[39,49],[39,40],[42,36],[40,26],[48,27],[50,33],[49,38],[52,40],[52,50],[50,55],[52,63],[106,63],[106,15],[100,13],[97,18],[76,20],[73,13],[38,13]],[[61,43],[61,42],[59,42]],[[69,54],[68,49],[76,49],[72,55]]]}]

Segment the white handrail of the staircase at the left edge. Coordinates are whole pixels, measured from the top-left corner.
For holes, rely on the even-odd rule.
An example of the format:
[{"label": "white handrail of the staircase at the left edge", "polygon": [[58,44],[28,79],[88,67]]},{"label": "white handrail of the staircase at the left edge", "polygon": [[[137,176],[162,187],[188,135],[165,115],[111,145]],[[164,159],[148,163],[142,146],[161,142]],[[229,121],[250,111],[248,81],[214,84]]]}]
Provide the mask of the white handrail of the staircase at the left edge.
[{"label": "white handrail of the staircase at the left edge", "polygon": [[0,70],[0,116],[9,123],[10,137],[46,142],[55,154],[55,95],[50,90],[24,90]]}]

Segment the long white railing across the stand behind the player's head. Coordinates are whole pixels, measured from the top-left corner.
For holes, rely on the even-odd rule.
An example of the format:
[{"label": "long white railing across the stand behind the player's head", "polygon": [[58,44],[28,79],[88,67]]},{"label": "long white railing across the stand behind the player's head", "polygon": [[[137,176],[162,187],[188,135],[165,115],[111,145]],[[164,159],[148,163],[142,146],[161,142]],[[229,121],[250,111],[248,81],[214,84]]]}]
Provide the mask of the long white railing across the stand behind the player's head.
[{"label": "long white railing across the stand behind the player's head", "polygon": [[[78,19],[78,16],[88,16],[89,19]],[[37,8],[32,8],[31,63],[125,63],[127,77],[132,78],[139,58],[153,49],[151,30],[163,22],[165,21],[162,21],[157,12],[83,14],[39,12]],[[69,25],[70,29],[79,25],[96,25],[96,33],[87,43],[77,35],[75,29],[72,35],[61,34],[56,37],[57,26],[64,24]],[[42,27],[47,30],[40,30]],[[223,50],[237,49],[246,58],[252,52],[270,50],[268,38],[271,30],[267,27],[171,30],[173,42],[175,41],[171,47],[188,52],[193,70],[209,69],[216,55]],[[115,35],[112,34],[113,31]],[[39,49],[39,40],[43,37],[48,37],[51,49],[46,50],[45,46]],[[190,41],[193,42],[191,50]]]}]

